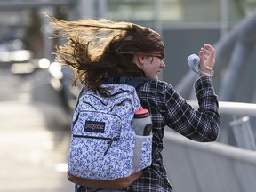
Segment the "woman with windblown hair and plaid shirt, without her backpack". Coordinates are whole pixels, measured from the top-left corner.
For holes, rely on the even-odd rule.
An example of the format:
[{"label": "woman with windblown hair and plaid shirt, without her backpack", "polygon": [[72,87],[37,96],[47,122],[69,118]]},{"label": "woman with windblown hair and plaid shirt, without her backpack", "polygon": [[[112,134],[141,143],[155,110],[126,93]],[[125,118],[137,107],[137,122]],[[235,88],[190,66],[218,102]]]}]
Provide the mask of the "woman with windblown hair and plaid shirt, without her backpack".
[{"label": "woman with windblown hair and plaid shirt, without her backpack", "polygon": [[[74,84],[108,97],[100,87],[109,77],[143,76],[150,81],[141,85],[138,96],[143,108],[150,111],[153,122],[152,164],[142,176],[122,191],[172,191],[163,165],[164,127],[168,126],[190,140],[217,139],[220,116],[218,100],[212,86],[215,50],[204,44],[199,51],[200,76],[195,83],[199,108],[188,105],[171,84],[158,80],[164,64],[164,43],[156,31],[129,22],[110,20],[64,21],[51,17],[58,36],[68,42],[57,49],[57,60],[75,70]],[[172,161],[172,160],[171,160]],[[175,172],[173,173],[175,174]],[[108,191],[85,188],[77,191]]]}]

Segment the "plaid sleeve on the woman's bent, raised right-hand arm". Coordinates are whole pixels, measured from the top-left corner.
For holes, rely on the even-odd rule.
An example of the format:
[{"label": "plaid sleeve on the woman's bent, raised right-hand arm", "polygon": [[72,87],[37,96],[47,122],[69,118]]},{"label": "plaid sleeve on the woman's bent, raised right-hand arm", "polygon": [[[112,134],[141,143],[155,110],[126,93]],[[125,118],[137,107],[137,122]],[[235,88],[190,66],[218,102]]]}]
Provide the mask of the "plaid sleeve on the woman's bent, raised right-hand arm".
[{"label": "plaid sleeve on the woman's bent, raised right-hand arm", "polygon": [[214,141],[220,129],[219,103],[210,77],[196,81],[199,108],[192,108],[172,87],[166,90],[165,120],[167,126],[190,140]]}]

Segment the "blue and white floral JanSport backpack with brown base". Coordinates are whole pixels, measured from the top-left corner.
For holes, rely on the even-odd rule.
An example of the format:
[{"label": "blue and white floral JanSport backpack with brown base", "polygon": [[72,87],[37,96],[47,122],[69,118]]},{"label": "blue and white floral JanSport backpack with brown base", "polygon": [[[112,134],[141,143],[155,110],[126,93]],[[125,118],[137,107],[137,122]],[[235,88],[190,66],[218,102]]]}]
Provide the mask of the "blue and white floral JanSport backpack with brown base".
[{"label": "blue and white floral JanSport backpack with brown base", "polygon": [[[136,135],[132,125],[134,112],[140,107],[135,87],[145,81],[148,80],[133,78],[129,81],[121,77],[116,84],[110,79],[101,85],[111,87],[108,98],[92,90],[80,92],[71,124],[68,180],[75,183],[80,180],[77,184],[81,185],[81,179],[85,179],[87,183],[83,186],[96,188],[98,180],[107,180],[108,187],[103,187],[109,188],[110,180],[129,177],[131,180],[131,175],[136,175],[137,179],[140,171],[151,164],[152,134]],[[89,181],[96,181],[96,186]],[[132,184],[127,180],[124,183]],[[123,187],[110,185],[110,188]]]}]

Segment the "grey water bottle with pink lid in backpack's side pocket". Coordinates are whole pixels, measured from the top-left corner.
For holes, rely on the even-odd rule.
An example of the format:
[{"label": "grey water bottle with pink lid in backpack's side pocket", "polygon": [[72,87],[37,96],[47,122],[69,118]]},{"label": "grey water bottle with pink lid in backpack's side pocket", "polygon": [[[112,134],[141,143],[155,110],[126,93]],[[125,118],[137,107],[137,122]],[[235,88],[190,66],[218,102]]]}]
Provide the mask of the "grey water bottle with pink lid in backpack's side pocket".
[{"label": "grey water bottle with pink lid in backpack's side pocket", "polygon": [[148,136],[152,132],[152,121],[148,109],[140,107],[135,111],[133,127],[137,135]]}]

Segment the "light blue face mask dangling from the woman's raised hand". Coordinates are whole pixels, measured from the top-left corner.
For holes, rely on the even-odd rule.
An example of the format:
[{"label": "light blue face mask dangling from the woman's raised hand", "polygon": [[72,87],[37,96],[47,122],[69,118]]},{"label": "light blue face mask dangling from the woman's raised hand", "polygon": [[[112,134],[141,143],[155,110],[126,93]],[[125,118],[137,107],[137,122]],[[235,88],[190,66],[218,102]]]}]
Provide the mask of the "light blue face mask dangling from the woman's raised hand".
[{"label": "light blue face mask dangling from the woman's raised hand", "polygon": [[206,73],[206,72],[200,70],[200,65],[199,65],[199,63],[200,63],[200,58],[199,58],[196,54],[191,54],[191,55],[189,55],[187,61],[188,61],[188,66],[189,66],[189,68],[190,68],[193,72],[195,72],[196,74],[199,74],[199,75],[200,75],[200,74],[204,74],[204,76],[210,76],[210,77],[213,76],[214,71],[213,71],[212,68],[210,68],[209,66],[206,66],[206,68],[211,71],[211,74],[210,74],[210,73]]}]

